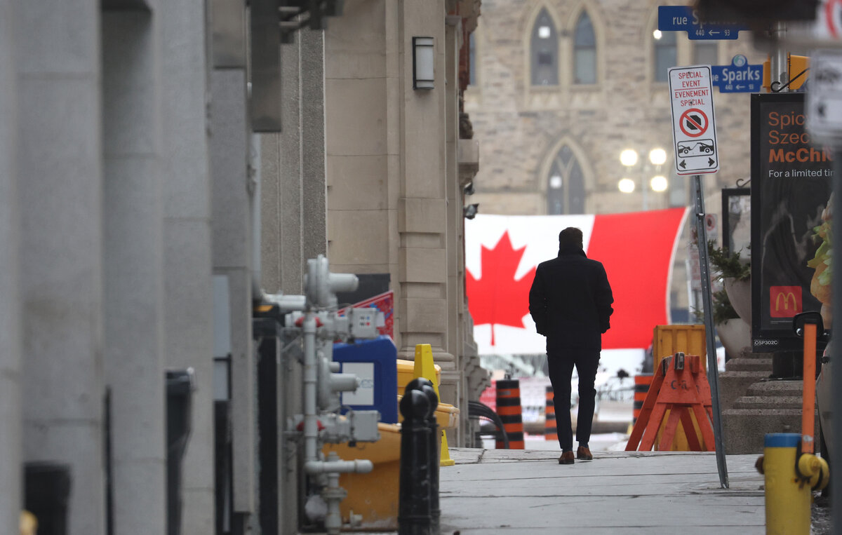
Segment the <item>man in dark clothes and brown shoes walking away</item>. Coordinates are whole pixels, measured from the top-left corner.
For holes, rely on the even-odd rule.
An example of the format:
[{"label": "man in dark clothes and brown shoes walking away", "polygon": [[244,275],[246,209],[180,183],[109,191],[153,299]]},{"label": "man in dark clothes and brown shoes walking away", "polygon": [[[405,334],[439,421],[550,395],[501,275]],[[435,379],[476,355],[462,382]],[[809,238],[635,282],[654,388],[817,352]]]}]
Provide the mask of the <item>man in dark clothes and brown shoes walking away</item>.
[{"label": "man in dark clothes and brown shoes walking away", "polygon": [[538,265],[529,292],[529,311],[538,334],[546,336],[552,404],[556,408],[559,464],[573,464],[570,422],[570,379],[578,372],[579,408],[576,424],[581,460],[592,460],[588,441],[594,420],[596,370],[602,333],[610,328],[614,297],[605,267],[584,254],[582,230],[568,227],[558,234],[558,257]]}]

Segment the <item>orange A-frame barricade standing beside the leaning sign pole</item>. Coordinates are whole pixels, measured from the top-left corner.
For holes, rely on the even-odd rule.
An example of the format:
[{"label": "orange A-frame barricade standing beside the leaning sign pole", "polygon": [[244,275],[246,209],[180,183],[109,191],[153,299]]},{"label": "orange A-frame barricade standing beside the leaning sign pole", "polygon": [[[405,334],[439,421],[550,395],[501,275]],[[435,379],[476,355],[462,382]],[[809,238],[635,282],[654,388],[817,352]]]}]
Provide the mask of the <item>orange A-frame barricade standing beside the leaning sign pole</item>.
[{"label": "orange A-frame barricade standing beside the leaning sign pole", "polygon": [[[701,368],[698,355],[677,352],[673,357],[663,358],[655,373],[646,400],[643,401],[632,436],[626,444],[626,451],[649,451],[655,445],[655,438],[664,416],[669,411],[658,450],[669,449],[673,442],[679,421],[685,428],[690,450],[695,452],[715,450],[713,426],[711,426],[711,387]],[[699,426],[699,437],[690,418],[690,411]]]}]

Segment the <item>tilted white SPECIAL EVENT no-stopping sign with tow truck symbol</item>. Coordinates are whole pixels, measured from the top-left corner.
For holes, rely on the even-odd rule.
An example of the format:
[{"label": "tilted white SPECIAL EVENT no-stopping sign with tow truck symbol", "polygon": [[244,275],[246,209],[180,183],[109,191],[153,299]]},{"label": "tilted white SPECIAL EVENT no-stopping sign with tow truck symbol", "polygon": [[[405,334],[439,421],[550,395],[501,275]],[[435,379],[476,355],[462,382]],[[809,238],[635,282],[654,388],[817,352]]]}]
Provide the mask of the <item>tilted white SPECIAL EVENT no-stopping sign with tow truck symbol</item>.
[{"label": "tilted white SPECIAL EVENT no-stopping sign with tow truck symbol", "polygon": [[675,172],[696,175],[719,170],[717,129],[713,119],[711,67],[669,69],[673,114]]}]

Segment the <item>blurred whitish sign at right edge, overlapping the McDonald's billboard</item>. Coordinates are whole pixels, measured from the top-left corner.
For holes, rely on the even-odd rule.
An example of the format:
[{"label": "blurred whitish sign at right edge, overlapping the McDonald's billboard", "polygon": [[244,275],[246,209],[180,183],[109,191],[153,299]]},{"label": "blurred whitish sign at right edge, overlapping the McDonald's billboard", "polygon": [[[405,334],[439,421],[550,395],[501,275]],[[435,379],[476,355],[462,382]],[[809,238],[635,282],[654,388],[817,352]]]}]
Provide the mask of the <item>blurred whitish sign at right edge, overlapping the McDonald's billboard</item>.
[{"label": "blurred whitish sign at right edge, overlapping the McDonald's billboard", "polygon": [[807,132],[813,140],[842,146],[842,51],[816,50],[807,92]]}]

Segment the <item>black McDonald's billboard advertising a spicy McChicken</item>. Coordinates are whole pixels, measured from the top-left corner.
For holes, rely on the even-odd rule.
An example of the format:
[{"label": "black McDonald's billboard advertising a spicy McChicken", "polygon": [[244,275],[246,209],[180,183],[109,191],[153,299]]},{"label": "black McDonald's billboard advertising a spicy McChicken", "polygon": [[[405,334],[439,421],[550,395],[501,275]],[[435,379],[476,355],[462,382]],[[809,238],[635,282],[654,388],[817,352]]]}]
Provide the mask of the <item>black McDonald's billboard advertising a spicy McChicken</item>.
[{"label": "black McDonald's billboard advertising a spicy McChicken", "polygon": [[833,161],[822,146],[811,144],[805,122],[804,93],[751,96],[751,331],[756,352],[800,349],[792,316],[821,311],[828,301],[829,275],[819,275],[829,257],[822,229],[829,226],[823,215],[829,214]]}]

